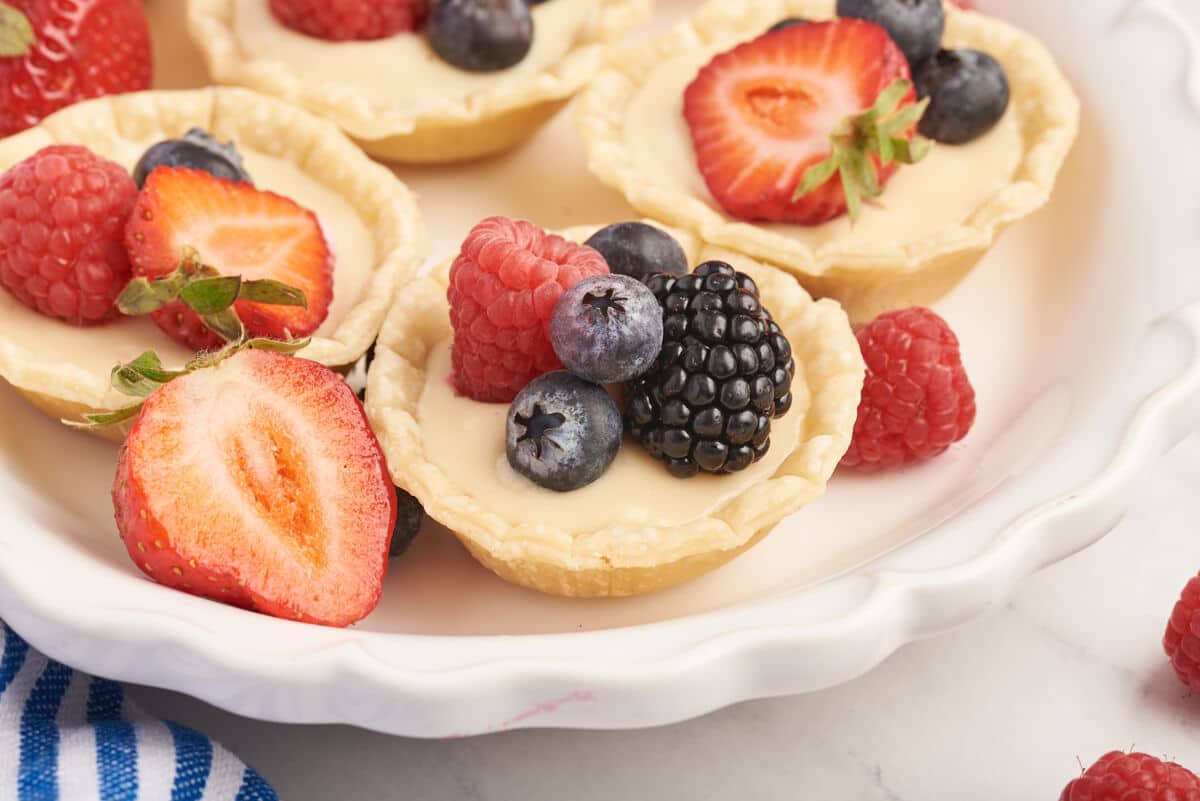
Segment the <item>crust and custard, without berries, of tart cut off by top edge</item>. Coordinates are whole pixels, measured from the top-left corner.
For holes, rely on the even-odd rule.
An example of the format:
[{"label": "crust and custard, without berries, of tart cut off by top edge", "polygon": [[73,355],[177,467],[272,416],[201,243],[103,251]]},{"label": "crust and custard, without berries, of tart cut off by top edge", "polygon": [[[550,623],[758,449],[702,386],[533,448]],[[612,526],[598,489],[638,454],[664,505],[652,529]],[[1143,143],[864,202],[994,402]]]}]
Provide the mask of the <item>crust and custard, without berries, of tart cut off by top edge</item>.
[{"label": "crust and custard, without berries, of tart cut off by top edge", "polygon": [[266,0],[188,0],[188,28],[212,79],[250,86],[336,121],[372,156],[458,162],[508,150],[600,68],[608,43],[652,0],[548,0],[533,7],[520,65],[470,73],[442,62],[421,31],[325,42],[284,28]]}]

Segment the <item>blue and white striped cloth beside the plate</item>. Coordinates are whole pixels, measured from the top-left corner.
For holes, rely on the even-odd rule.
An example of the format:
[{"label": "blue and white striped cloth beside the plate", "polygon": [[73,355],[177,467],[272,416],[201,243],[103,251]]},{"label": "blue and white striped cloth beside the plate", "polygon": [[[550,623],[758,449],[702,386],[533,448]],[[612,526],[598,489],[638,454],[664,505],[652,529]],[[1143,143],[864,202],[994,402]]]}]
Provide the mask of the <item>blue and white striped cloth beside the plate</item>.
[{"label": "blue and white striped cloth beside the plate", "polygon": [[278,801],[203,734],[29,648],[0,622],[0,801]]}]

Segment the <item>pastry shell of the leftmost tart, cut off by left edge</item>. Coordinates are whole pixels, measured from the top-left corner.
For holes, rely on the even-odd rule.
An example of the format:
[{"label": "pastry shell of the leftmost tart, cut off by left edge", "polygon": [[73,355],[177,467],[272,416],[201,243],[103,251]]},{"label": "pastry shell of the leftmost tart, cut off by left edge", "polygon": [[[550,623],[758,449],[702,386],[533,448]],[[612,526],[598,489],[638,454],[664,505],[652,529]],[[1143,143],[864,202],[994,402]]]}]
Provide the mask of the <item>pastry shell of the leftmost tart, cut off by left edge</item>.
[{"label": "pastry shell of the leftmost tart, cut off by left edge", "polygon": [[[336,330],[313,337],[300,351],[305,359],[335,369],[348,368],[374,341],[392,295],[420,267],[428,246],[413,194],[331,124],[244,89],[103,97],[72,106],[0,140],[0,171],[52,144],[84,144],[104,156],[120,141],[179,137],[193,126],[221,140],[233,139],[241,149],[290,162],[340,194],[362,219],[374,240],[376,264],[361,296]],[[89,329],[77,331],[80,342],[86,342]],[[58,420],[82,421],[85,414],[131,403],[110,387],[107,373],[96,374],[70,361],[32,359],[12,337],[0,336],[0,378]],[[96,433],[120,441],[126,432],[127,424]]]}]

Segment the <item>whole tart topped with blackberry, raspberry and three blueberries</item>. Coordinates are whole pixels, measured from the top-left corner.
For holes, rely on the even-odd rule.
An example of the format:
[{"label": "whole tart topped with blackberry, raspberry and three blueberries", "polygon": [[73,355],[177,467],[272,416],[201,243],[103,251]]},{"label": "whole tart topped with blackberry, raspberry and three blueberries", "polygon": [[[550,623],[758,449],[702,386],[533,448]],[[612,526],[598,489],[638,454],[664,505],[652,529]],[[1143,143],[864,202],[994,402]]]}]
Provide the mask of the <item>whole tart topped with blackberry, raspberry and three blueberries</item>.
[{"label": "whole tart topped with blackberry, raspberry and three blueberries", "polygon": [[397,294],[367,415],[397,486],[509,582],[688,580],[822,494],[848,446],[864,367],[841,307],[673,234],[493,217]]}]

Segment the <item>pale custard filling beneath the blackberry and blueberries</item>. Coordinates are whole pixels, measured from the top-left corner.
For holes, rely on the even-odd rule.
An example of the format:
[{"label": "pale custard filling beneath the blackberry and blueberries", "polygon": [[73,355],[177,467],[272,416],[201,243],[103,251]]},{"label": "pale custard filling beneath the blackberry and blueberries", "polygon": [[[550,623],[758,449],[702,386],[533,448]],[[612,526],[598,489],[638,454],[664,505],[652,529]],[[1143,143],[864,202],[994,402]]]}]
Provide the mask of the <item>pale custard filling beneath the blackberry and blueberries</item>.
[{"label": "pale custard filling beneath the blackberry and blueberries", "polygon": [[[671,526],[707,517],[752,484],[764,481],[796,450],[802,414],[772,421],[770,450],[750,468],[727,476],[676,478],[628,436],[608,470],[569,493],[539,487],[516,472],[504,452],[504,403],[479,403],[455,392],[450,383],[450,339],[432,348],[418,424],[425,453],[475,501],[494,514],[574,531],[610,526]],[[630,532],[628,536],[636,536]]]}]

